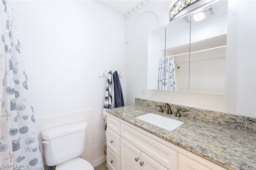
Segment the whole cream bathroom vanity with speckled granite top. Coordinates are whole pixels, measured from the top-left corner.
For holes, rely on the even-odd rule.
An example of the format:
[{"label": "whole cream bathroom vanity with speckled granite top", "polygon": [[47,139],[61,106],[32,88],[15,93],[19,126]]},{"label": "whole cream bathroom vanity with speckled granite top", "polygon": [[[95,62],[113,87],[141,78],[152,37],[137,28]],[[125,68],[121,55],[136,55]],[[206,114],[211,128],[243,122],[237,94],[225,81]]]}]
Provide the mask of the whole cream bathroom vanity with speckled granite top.
[{"label": "whole cream bathroom vanity with speckled granite top", "polygon": [[[167,115],[167,109],[158,112],[155,104],[161,102],[136,99],[135,105],[107,111],[109,169],[256,169],[255,118],[242,117],[239,122],[240,116],[192,107],[175,117],[175,113]],[[181,106],[171,107],[176,112]],[[150,112],[184,124],[168,131],[136,118]]]}]

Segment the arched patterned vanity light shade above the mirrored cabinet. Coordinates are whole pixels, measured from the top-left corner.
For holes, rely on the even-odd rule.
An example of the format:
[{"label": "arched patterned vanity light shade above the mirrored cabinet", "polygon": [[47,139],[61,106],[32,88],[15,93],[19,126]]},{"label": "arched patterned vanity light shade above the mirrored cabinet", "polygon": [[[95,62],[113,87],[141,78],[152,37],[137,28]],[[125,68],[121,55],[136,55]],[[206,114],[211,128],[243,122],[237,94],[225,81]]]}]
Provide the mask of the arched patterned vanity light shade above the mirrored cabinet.
[{"label": "arched patterned vanity light shade above the mirrored cabinet", "polygon": [[178,0],[172,9],[170,10],[170,21],[176,16],[179,12],[187,8],[188,6],[198,2],[200,0]]}]

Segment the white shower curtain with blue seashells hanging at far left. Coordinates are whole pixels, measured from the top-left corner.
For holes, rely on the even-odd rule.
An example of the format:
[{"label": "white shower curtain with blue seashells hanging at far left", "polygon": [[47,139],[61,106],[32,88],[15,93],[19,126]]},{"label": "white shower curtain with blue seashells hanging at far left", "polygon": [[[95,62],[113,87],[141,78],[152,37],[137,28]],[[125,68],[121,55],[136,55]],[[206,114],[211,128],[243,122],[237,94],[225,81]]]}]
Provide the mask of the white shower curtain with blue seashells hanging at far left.
[{"label": "white shower curtain with blue seashells hanging at far left", "polygon": [[43,170],[12,9],[0,2],[0,169]]}]

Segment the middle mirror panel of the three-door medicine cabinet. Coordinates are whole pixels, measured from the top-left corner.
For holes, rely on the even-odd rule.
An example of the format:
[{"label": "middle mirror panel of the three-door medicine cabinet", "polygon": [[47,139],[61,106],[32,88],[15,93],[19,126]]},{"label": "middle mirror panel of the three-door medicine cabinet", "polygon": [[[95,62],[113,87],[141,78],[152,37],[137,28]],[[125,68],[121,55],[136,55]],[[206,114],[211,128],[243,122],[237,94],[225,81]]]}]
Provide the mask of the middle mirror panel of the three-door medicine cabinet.
[{"label": "middle mirror panel of the three-door medicine cabinet", "polygon": [[[166,60],[173,60],[172,70],[167,69],[166,78],[172,78],[167,82],[167,87],[175,84],[176,90],[165,88],[165,90],[188,92],[189,91],[189,51],[190,51],[190,15],[174,20],[166,24]],[[172,63],[171,63],[172,64]],[[166,63],[166,67],[171,67]],[[170,71],[171,70],[171,71]],[[170,73],[173,73],[170,75]],[[174,86],[174,85],[173,85]]]}]

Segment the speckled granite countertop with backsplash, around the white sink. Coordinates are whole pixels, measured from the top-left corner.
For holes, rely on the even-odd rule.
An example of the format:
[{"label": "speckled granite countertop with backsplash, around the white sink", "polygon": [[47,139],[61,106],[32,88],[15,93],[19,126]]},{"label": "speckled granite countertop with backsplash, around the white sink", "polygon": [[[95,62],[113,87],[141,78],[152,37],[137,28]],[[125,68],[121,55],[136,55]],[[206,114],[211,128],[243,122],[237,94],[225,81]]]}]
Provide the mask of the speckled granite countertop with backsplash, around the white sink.
[{"label": "speckled granite countertop with backsplash, around the white sink", "polygon": [[[156,104],[162,102],[136,99],[135,105],[107,110],[132,125],[140,127],[170,143],[189,150],[230,170],[256,170],[256,118],[196,109],[170,104],[172,115],[159,112]],[[177,108],[181,117],[176,117]],[[173,131],[135,118],[145,113],[155,113],[185,122]]]}]

